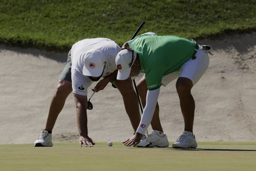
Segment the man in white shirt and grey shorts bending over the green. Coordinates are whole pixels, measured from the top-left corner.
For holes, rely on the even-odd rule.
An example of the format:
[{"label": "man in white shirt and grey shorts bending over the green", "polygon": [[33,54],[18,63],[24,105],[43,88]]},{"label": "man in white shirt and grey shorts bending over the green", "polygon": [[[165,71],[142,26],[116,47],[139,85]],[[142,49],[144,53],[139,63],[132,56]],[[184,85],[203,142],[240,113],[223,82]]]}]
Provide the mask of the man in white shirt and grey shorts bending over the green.
[{"label": "man in white shirt and grey shorts bending over the green", "polygon": [[99,81],[93,91],[103,90],[109,82],[112,82],[122,94],[125,110],[134,132],[136,132],[137,125],[140,123],[140,112],[131,77],[125,81],[116,80],[115,58],[119,51],[120,47],[107,38],[83,39],[72,46],[67,64],[59,78],[58,87],[52,98],[46,127],[35,141],[35,146],[53,146],[53,126],[72,90],[76,103],[80,146],[84,144],[84,146],[92,147],[95,144],[88,137],[87,88],[93,81],[98,81],[101,77],[103,79]]}]

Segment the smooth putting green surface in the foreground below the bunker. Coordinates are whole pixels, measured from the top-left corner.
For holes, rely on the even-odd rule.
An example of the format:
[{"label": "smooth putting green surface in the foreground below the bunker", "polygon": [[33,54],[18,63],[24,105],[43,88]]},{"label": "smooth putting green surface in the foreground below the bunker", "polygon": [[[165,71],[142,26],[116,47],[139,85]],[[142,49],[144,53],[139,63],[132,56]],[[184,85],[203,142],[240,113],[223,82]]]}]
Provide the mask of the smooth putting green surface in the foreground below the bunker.
[{"label": "smooth putting green surface in the foreground below the bunker", "polygon": [[256,142],[199,142],[197,149],[134,148],[122,143],[96,143],[93,148],[77,143],[0,145],[3,171],[253,171]]}]

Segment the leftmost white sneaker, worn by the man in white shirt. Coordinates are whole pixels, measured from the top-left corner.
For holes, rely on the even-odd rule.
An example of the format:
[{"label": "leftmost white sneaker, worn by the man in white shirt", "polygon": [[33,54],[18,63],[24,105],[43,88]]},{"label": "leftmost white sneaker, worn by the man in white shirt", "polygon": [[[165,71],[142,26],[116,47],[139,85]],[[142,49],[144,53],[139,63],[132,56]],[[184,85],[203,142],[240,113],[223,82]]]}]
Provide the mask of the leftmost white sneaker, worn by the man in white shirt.
[{"label": "leftmost white sneaker, worn by the man in white shirt", "polygon": [[40,135],[38,135],[38,139],[35,140],[35,147],[52,147],[52,134],[49,134],[48,131],[44,130]]}]

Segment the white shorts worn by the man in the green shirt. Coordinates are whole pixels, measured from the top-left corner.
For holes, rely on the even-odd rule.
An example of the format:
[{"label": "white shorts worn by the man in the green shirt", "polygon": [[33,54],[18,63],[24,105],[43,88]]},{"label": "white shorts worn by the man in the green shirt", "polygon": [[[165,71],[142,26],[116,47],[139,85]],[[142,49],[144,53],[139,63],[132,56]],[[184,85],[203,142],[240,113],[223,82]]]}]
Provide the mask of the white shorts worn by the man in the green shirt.
[{"label": "white shorts worn by the man in the green shirt", "polygon": [[193,85],[195,85],[203,76],[209,66],[209,56],[206,52],[201,50],[200,45],[195,56],[195,59],[189,59],[187,62],[185,62],[180,67],[180,70],[178,72],[169,73],[168,75],[163,76],[163,86],[166,86],[177,77],[189,78],[192,81]]}]

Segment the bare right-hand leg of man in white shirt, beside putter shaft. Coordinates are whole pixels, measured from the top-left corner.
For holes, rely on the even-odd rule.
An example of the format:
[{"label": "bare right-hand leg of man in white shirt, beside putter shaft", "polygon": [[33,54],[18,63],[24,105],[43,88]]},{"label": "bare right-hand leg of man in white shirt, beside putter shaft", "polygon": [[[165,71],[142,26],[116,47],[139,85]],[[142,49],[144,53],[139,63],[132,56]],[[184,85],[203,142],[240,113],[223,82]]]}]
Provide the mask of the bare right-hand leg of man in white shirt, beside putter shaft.
[{"label": "bare right-hand leg of man in white shirt, beside putter shaft", "polygon": [[140,124],[140,110],[137,95],[134,91],[132,80],[128,78],[126,80],[115,80],[113,84],[122,94],[122,98],[125,104],[125,110],[130,118],[131,125],[136,132],[137,127]]}]

